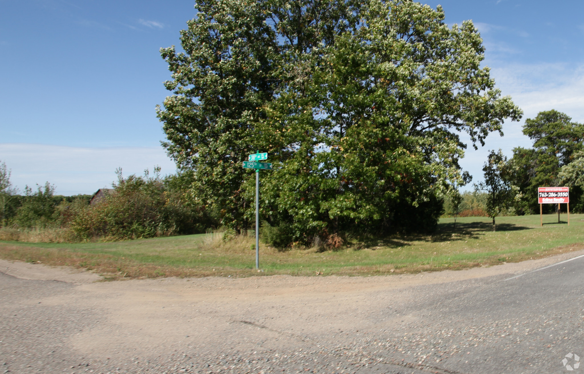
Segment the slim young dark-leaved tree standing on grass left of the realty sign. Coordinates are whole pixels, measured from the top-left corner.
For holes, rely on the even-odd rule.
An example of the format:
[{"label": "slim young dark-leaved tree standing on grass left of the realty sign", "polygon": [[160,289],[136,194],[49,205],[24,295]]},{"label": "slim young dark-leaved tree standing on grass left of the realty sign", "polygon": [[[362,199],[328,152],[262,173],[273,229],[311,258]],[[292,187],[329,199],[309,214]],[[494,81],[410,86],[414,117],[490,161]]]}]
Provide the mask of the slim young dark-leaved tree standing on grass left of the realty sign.
[{"label": "slim young dark-leaved tree standing on grass left of the realty sign", "polygon": [[485,173],[485,181],[475,185],[475,188],[484,191],[486,198],[486,213],[493,219],[493,231],[496,230],[495,217],[503,209],[506,209],[513,195],[513,188],[507,178],[507,157],[500,150],[489,153],[482,171]]}]

